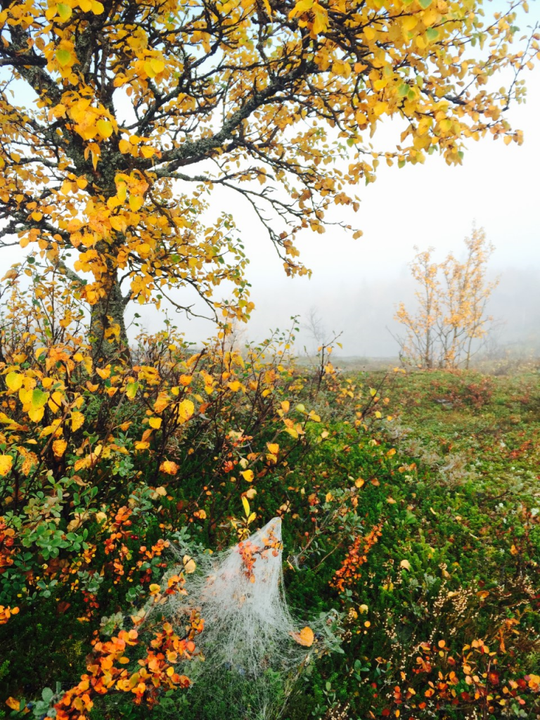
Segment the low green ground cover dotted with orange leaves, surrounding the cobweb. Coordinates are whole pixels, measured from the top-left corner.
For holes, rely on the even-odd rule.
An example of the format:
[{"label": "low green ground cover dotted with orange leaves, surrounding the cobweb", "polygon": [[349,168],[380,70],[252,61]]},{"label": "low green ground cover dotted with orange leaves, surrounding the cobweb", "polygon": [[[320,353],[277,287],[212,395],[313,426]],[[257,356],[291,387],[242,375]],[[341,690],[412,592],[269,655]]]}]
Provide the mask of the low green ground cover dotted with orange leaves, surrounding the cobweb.
[{"label": "low green ground cover dotted with orange leaves, surrounding the cobweb", "polygon": [[[385,379],[375,368],[343,386],[356,387],[350,402],[340,387],[323,383],[318,393],[310,390],[314,385],[303,387],[300,400],[322,420],[307,426],[307,444],[292,443],[280,426],[256,438],[263,448],[276,437],[280,451],[290,445],[284,462],[268,466],[271,472],[262,461],[253,466],[250,506],[253,526],[283,518],[292,611],[305,624],[332,609],[341,614],[341,652],[318,657],[314,644],[316,662],[282,720],[540,719],[539,380],[534,369],[511,375],[390,370]],[[374,397],[377,406],[370,405]],[[362,415],[361,402],[371,415]],[[231,408],[236,415],[243,405]],[[157,493],[148,486],[149,499],[130,516],[122,540],[133,556],[140,538],[150,546],[179,527],[194,498],[193,541],[210,549],[235,542],[229,520],[240,505],[238,483],[215,462],[215,443],[209,447],[202,460],[179,451],[181,482],[162,480],[166,497],[164,488]],[[239,444],[227,452],[228,460],[244,450]],[[203,482],[204,490],[210,487],[205,495]],[[128,601],[135,608],[137,598],[130,600],[114,580],[109,555],[103,562],[94,614],[125,616]],[[140,582],[159,582],[163,558],[147,564]],[[0,698],[11,695],[18,703],[22,693],[35,698],[56,682],[65,690],[84,672],[89,642],[82,600],[63,592],[65,598],[58,591],[23,608],[2,626],[4,634],[0,629]],[[45,662],[42,647],[48,647]],[[111,693],[95,698],[90,717],[248,718],[238,698],[219,698],[204,686],[198,691],[209,698],[202,709],[182,691],[160,695],[151,711],[134,705],[129,693],[120,699]],[[0,718],[21,720],[30,709],[31,717],[44,716],[39,703],[25,703],[19,711],[0,708]]]}]

